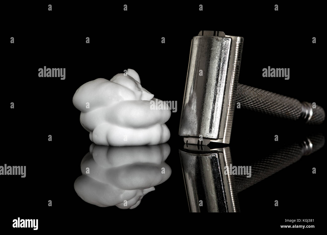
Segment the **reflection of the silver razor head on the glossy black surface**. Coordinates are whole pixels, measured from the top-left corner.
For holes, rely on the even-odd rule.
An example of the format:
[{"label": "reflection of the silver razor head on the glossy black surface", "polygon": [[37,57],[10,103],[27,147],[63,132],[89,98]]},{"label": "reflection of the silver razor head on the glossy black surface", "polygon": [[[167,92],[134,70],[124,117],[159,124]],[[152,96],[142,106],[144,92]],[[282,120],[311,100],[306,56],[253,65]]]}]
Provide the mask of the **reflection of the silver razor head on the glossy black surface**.
[{"label": "reflection of the silver razor head on the glossy black surface", "polygon": [[[184,145],[180,150],[186,194],[191,212],[238,212],[230,148]],[[227,166],[227,174],[224,173]]]}]

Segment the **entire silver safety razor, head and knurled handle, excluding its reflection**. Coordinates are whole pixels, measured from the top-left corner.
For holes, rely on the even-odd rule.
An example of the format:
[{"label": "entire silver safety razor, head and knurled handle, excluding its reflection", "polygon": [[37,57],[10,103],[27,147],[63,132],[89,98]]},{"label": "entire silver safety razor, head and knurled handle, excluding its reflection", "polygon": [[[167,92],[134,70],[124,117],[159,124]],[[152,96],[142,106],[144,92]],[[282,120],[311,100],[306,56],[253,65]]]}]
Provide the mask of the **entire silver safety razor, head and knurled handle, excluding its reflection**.
[{"label": "entire silver safety razor, head and knurled handle, excluding its reflection", "polygon": [[200,31],[193,37],[179,135],[186,144],[229,143],[235,103],[307,124],[321,124],[324,110],[312,103],[238,84],[243,37]]}]

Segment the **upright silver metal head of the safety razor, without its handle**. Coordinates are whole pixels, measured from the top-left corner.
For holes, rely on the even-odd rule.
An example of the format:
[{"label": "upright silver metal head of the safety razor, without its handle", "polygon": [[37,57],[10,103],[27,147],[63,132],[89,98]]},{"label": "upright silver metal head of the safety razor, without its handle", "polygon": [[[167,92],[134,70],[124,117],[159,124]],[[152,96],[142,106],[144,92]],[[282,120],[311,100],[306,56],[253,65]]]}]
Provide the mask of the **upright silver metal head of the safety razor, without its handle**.
[{"label": "upright silver metal head of the safety razor, without its handle", "polygon": [[229,143],[243,37],[200,31],[191,43],[179,135],[187,144]]}]

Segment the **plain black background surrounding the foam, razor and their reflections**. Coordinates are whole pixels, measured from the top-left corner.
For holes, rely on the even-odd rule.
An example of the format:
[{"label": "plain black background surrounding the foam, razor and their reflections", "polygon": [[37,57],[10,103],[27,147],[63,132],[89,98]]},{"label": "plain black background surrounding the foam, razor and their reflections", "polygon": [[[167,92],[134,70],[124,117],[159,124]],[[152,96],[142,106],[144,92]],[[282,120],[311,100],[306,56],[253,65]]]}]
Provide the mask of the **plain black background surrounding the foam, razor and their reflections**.
[{"label": "plain black background surrounding the foam, razor and their reflections", "polygon": [[[123,11],[124,4],[128,11]],[[198,10],[199,4],[203,11]],[[26,178],[0,177],[1,205],[6,211],[0,223],[3,228],[12,228],[17,217],[38,218],[41,231],[53,228],[58,216],[68,225],[87,220],[92,226],[97,220],[129,218],[130,213],[145,219],[151,214],[166,218],[188,212],[178,128],[190,43],[200,30],[244,37],[240,83],[326,108],[319,5],[76,2],[12,4],[3,6],[3,11],[4,145],[0,165],[26,166]],[[85,43],[86,37],[90,44]],[[161,37],[165,37],[164,44]],[[317,38],[316,44],[312,37]],[[39,78],[38,68],[43,66],[66,68],[66,79]],[[268,66],[290,68],[290,79],[263,78],[262,69]],[[172,175],[133,210],[100,208],[84,202],[74,190],[91,141],[79,123],[80,111],[72,98],[85,82],[100,77],[110,80],[128,68],[136,70],[142,86],[155,97],[177,100],[177,112],[166,123],[171,132],[166,163]],[[308,127],[235,109],[229,145],[232,160],[242,164],[263,157],[280,144],[301,140],[311,132],[324,133],[325,124]],[[51,142],[48,135],[52,135]],[[275,135],[279,142],[274,141]],[[325,156],[322,148],[244,190],[238,194],[241,214],[218,215],[219,219],[269,229],[286,224],[284,219],[317,221],[324,205]],[[313,167],[317,174],[312,174]]]}]

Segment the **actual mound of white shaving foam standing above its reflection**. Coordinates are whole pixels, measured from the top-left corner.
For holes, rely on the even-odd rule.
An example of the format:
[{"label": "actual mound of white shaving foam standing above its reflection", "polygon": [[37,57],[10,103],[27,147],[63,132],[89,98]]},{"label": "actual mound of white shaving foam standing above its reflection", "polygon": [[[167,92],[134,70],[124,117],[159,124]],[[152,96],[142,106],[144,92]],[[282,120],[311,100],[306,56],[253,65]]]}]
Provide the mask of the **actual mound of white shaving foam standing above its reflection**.
[{"label": "actual mound of white shaving foam standing above its reflection", "polygon": [[81,111],[80,122],[99,145],[153,145],[169,140],[164,124],[170,110],[150,109],[153,95],[140,84],[139,75],[128,69],[110,81],[98,78],[80,86],[74,106]]}]

